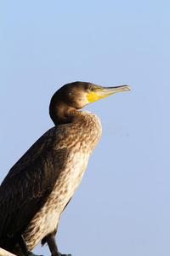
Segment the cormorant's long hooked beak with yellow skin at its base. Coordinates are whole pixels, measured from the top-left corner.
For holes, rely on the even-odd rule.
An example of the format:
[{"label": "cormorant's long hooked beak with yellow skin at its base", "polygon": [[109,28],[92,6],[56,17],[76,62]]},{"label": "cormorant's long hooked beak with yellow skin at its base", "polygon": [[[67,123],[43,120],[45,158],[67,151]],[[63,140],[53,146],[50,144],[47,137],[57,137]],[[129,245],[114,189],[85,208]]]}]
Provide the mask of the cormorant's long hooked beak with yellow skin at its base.
[{"label": "cormorant's long hooked beak with yellow skin at its base", "polygon": [[124,91],[124,90],[131,90],[128,85],[121,85],[121,86],[115,86],[115,87],[100,87],[96,88],[94,91],[90,91],[87,94],[88,103],[97,101],[101,98],[104,98],[106,96],[109,96],[113,93]]}]

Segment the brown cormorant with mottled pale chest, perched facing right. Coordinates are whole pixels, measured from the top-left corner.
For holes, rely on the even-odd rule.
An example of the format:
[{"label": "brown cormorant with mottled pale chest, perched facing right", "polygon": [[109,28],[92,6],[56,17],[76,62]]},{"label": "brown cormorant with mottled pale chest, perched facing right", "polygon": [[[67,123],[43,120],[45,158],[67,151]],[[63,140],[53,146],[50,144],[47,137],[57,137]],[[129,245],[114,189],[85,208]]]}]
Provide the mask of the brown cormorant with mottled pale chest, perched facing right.
[{"label": "brown cormorant with mottled pale chest, perched facing right", "polygon": [[[79,110],[128,85],[103,87],[73,82],[52,96],[46,131],[9,170],[0,186],[0,247],[17,256],[33,256],[41,241],[52,256],[59,253],[55,235],[61,212],[71,201],[88,159],[99,142],[99,117]],[[41,100],[41,99],[40,99]]]}]

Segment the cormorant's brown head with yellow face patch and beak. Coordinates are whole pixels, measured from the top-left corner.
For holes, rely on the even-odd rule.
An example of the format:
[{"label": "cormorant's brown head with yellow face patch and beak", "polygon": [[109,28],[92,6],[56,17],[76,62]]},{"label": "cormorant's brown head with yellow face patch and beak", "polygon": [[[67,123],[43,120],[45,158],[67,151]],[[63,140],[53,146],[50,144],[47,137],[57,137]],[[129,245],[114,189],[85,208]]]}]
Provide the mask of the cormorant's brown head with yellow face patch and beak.
[{"label": "cormorant's brown head with yellow face patch and beak", "polygon": [[[103,87],[97,84],[87,82],[74,82],[65,84],[54,93],[49,106],[49,113],[54,120],[57,110],[60,108],[80,109],[91,102],[95,102],[105,96],[113,93],[131,90],[127,85],[115,87]],[[54,121],[56,123],[56,121]]]}]

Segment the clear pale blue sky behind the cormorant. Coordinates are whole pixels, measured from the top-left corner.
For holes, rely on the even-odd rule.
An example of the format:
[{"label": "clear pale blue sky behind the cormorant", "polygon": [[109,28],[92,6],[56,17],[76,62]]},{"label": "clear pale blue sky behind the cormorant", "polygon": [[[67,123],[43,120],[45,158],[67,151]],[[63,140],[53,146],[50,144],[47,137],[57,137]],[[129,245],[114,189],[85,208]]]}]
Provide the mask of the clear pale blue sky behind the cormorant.
[{"label": "clear pale blue sky behind the cormorant", "polygon": [[85,108],[103,136],[60,219],[59,250],[169,256],[170,2],[16,0],[0,12],[0,181],[54,126],[48,104],[60,86],[128,84]]}]

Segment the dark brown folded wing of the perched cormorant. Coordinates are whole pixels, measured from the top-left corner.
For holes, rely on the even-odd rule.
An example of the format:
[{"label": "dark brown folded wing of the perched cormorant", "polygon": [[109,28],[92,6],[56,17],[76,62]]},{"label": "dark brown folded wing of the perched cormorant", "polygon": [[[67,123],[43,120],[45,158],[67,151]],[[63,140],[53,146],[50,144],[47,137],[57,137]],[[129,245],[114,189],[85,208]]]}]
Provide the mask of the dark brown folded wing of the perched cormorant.
[{"label": "dark brown folded wing of the perched cormorant", "polygon": [[65,168],[67,151],[49,132],[10,169],[0,186],[0,246],[14,247]]}]

